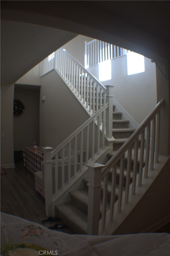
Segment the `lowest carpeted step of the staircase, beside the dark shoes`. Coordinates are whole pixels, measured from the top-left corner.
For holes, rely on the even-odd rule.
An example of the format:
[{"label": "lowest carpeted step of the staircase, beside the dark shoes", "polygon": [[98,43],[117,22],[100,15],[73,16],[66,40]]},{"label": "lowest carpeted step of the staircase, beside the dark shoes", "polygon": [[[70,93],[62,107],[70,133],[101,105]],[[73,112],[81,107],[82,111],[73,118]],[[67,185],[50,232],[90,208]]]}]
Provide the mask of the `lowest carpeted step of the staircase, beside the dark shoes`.
[{"label": "lowest carpeted step of the staircase, beside the dark shoes", "polygon": [[87,214],[71,202],[57,205],[57,216],[75,233],[87,234]]}]

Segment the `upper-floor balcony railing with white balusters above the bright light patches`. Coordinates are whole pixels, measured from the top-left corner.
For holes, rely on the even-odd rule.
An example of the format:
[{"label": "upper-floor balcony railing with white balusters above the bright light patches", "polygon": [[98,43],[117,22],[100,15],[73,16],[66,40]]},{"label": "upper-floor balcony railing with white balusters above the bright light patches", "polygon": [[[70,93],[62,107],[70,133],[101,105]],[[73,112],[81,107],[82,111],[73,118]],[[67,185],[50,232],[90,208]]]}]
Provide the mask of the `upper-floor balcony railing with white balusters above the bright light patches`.
[{"label": "upper-floor balcony railing with white balusters above the bright light patches", "polygon": [[113,45],[111,43],[103,42],[97,39],[91,42],[85,42],[85,57],[84,67],[88,68],[116,57],[125,55],[128,50]]}]

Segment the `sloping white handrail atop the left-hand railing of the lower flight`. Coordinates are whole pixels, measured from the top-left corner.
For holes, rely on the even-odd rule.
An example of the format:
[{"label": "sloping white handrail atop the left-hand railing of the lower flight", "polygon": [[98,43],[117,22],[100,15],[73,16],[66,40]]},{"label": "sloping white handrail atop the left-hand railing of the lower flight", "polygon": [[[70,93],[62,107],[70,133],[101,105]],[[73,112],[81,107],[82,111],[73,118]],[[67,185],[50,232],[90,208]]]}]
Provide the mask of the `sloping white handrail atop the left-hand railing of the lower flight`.
[{"label": "sloping white handrail atop the left-hand railing of the lower flight", "polygon": [[69,141],[71,141],[76,135],[80,133],[87,125],[89,125],[98,115],[100,115],[105,109],[107,109],[108,103],[101,107],[94,115],[92,115],[86,122],[84,122],[77,130],[75,130],[69,137],[67,137],[60,145],[58,145],[52,151],[52,157],[60,151]]}]

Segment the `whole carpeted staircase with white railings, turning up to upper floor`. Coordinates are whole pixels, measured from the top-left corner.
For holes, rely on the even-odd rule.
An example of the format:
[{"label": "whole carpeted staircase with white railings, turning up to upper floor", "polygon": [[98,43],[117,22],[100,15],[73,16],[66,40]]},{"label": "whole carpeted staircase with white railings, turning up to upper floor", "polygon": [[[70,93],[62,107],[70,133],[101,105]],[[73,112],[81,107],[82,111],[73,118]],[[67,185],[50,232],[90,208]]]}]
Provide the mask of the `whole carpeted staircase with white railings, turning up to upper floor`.
[{"label": "whole carpeted staircase with white railings, turning up to upper floor", "polygon": [[[114,109],[112,86],[104,87],[62,49],[56,55],[55,65],[49,65],[46,60],[46,71],[56,69],[90,118],[56,149],[44,149],[46,214],[57,215],[75,233],[111,235],[133,211],[160,171],[153,170],[159,161],[160,110],[164,99],[136,130],[131,129],[129,120],[122,120],[122,113]],[[66,148],[67,173],[64,165]],[[72,149],[74,172],[71,170]],[[80,150],[80,162],[77,162],[77,150]],[[63,156],[60,187],[59,151]],[[83,163],[84,151],[86,164]],[[53,156],[56,159],[54,168]],[[148,175],[152,179],[147,179]],[[49,184],[54,186],[55,193]],[[140,193],[136,194],[136,191]]]}]

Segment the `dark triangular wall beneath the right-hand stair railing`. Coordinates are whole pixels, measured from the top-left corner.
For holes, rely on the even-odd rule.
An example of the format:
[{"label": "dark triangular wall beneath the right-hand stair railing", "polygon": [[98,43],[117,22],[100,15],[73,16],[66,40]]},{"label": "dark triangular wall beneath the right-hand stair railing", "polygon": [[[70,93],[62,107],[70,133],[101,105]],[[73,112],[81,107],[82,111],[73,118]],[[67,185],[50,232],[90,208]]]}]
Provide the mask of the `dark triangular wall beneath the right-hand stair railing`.
[{"label": "dark triangular wall beneath the right-hand stair railing", "polygon": [[[170,159],[144,197],[114,232],[114,235],[151,232],[150,227],[168,219],[170,213]],[[158,226],[157,226],[158,228]]]}]

